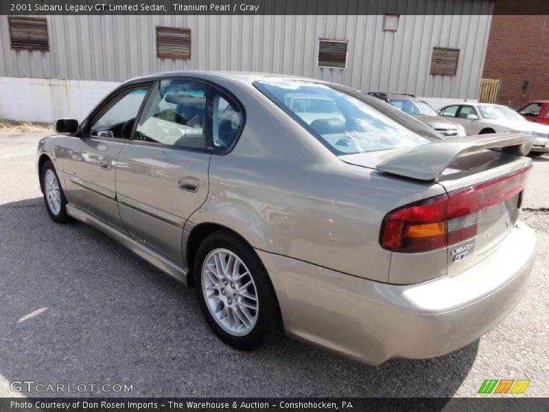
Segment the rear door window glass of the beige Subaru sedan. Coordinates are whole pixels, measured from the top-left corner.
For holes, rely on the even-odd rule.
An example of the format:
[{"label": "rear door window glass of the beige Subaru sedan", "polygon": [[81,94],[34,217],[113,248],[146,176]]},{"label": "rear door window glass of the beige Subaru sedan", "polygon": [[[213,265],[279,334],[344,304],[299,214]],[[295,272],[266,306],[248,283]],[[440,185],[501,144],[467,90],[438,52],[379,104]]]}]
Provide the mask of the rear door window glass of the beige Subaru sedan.
[{"label": "rear door window glass of the beige Subaru sedan", "polygon": [[206,84],[162,80],[154,85],[137,125],[135,140],[205,149]]}]

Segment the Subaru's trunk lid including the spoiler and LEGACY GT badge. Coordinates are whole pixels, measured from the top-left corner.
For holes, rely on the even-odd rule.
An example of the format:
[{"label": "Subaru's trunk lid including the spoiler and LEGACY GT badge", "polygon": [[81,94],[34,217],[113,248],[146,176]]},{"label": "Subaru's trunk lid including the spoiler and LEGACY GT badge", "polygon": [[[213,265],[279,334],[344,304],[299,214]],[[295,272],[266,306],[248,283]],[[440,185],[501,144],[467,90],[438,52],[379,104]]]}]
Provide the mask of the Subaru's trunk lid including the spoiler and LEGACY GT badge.
[{"label": "Subaru's trunk lid including the spoiler and LEGACY GT badge", "polygon": [[447,275],[452,276],[495,251],[515,226],[519,198],[532,164],[524,155],[532,141],[533,137],[526,135],[482,135],[412,149],[345,155],[341,159],[403,179],[431,181],[442,185],[450,197],[478,194],[468,195],[478,201],[478,210],[446,222],[448,236],[454,225],[476,222],[474,236],[453,243],[448,238]]}]

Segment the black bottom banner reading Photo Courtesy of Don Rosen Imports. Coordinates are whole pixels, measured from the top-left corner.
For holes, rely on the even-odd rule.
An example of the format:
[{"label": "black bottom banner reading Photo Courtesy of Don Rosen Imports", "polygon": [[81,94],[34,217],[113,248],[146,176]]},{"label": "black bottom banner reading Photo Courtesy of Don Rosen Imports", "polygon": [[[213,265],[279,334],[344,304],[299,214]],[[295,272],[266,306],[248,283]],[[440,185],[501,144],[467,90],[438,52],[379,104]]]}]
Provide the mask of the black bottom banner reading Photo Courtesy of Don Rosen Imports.
[{"label": "black bottom banner reading Photo Courtesy of Don Rosen Imports", "polygon": [[547,398],[0,398],[2,412],[546,411]]}]

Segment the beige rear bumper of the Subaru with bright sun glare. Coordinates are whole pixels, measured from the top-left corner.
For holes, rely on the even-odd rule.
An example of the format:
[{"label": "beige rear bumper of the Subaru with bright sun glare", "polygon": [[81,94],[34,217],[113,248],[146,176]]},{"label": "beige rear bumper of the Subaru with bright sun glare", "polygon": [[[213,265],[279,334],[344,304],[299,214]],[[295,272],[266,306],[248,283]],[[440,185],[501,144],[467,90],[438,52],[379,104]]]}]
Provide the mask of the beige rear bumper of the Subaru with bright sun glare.
[{"label": "beige rear bumper of the Subaru with bright sun glare", "polygon": [[524,223],[497,251],[454,277],[391,285],[258,251],[290,336],[379,365],[463,347],[500,323],[528,286],[535,233]]}]

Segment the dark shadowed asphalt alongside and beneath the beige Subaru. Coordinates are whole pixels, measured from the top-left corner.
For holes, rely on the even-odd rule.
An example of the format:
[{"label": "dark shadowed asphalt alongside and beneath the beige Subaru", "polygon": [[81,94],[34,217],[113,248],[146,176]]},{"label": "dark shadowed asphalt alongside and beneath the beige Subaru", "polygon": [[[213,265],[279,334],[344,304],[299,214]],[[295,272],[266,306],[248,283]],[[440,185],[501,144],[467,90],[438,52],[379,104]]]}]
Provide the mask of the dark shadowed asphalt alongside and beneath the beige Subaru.
[{"label": "dark shadowed asphalt alongside and beneath the beige Subaru", "polygon": [[87,385],[25,396],[446,397],[478,351],[379,367],[285,337],[238,352],[209,330],[194,290],[100,231],[55,224],[42,198],[0,205],[0,227],[0,382]]}]

